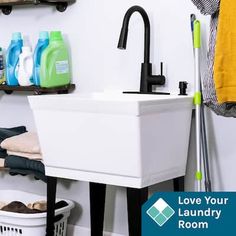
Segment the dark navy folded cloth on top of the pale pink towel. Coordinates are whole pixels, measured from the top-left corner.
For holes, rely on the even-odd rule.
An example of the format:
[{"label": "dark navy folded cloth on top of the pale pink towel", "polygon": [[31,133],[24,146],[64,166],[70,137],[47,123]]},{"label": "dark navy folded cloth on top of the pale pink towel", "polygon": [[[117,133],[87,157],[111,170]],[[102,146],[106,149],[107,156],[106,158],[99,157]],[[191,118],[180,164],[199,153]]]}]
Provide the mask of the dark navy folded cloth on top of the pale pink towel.
[{"label": "dark navy folded cloth on top of the pale pink towel", "polygon": [[[25,132],[27,132],[25,126],[18,126],[13,128],[0,128],[0,143],[6,138],[23,134]],[[0,147],[0,158],[5,158],[6,156],[7,156],[6,150]]]}]

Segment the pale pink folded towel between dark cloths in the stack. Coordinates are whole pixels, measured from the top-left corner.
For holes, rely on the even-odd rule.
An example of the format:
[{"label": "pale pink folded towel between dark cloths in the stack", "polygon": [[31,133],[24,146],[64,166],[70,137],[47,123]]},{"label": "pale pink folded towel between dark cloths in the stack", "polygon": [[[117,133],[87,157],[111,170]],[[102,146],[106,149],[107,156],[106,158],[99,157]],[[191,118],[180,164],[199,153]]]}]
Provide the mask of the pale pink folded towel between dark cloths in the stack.
[{"label": "pale pink folded towel between dark cloths in the stack", "polygon": [[33,132],[7,138],[1,142],[1,148],[13,152],[41,153],[38,136]]}]

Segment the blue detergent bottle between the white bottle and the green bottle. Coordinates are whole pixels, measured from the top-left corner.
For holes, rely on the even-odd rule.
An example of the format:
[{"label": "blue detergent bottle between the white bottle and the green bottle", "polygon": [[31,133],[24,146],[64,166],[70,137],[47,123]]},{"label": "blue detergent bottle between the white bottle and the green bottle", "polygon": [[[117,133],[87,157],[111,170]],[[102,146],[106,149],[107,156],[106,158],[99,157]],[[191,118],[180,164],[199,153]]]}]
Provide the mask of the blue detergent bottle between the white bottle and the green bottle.
[{"label": "blue detergent bottle between the white bottle and the green bottle", "polygon": [[33,83],[40,86],[41,55],[49,45],[49,34],[47,31],[39,33],[39,40],[34,50]]}]

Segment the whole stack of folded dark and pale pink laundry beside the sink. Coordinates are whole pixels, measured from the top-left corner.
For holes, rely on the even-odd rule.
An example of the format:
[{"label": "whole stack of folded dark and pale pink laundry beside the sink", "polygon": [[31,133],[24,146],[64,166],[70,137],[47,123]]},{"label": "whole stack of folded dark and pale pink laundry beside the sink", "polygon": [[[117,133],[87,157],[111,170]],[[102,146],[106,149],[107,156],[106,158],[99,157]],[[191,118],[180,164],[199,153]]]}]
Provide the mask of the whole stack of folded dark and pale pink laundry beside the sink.
[{"label": "whole stack of folded dark and pale pink laundry beside the sink", "polygon": [[0,128],[0,168],[46,181],[37,134],[27,132],[24,126]]}]

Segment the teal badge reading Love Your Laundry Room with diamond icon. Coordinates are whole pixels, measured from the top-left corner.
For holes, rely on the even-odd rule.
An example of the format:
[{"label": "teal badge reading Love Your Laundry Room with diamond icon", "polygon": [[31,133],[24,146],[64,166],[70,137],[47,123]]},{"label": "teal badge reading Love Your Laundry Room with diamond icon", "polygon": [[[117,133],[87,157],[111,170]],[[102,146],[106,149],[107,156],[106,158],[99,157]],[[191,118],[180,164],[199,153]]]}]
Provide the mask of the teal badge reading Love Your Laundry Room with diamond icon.
[{"label": "teal badge reading Love Your Laundry Room with diamond icon", "polygon": [[234,235],[236,192],[156,192],[142,206],[142,236]]}]

